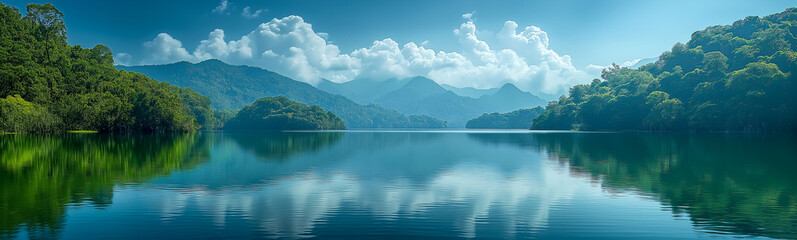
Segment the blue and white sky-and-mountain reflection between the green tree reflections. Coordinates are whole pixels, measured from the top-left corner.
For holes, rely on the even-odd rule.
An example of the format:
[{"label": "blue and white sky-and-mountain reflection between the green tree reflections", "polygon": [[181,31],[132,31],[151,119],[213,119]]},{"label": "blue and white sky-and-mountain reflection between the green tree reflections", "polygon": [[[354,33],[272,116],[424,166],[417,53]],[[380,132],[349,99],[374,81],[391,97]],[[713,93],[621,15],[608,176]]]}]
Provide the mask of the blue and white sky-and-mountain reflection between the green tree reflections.
[{"label": "blue and white sky-and-mountain reflection between the green tree reflections", "polygon": [[[214,156],[196,170],[156,181],[191,190],[152,203],[164,206],[163,220],[200,211],[213,216],[214,226],[226,228],[229,219],[243,218],[264,236],[287,238],[358,229],[406,237],[479,232],[503,238],[544,229],[549,212],[577,187],[566,184],[572,182],[566,171],[543,167],[535,154],[486,151],[463,134],[347,133],[326,148],[277,162],[261,161],[270,155],[241,144],[241,139],[272,138],[231,139],[248,154]],[[497,216],[500,221],[487,221]],[[355,224],[357,218],[368,221]],[[330,225],[334,232],[326,232]]]}]

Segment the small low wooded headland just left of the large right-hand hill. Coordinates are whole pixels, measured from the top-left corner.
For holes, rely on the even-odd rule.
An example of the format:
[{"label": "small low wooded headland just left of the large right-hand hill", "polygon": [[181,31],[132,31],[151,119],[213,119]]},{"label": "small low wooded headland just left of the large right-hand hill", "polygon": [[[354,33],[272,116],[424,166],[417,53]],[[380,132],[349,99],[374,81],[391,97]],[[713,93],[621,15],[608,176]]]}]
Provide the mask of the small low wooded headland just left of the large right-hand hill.
[{"label": "small low wooded headland just left of the large right-hand hill", "polygon": [[486,129],[529,129],[531,121],[537,118],[545,109],[536,107],[531,109],[518,109],[508,113],[485,113],[471,119],[465,125],[467,128]]}]

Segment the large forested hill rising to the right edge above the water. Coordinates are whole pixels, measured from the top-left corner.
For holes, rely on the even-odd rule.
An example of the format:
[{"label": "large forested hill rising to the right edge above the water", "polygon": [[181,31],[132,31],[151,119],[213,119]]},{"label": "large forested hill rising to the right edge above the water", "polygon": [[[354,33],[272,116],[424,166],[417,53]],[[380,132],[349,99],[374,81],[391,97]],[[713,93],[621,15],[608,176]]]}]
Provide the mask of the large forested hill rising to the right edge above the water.
[{"label": "large forested hill rising to the right edge above the water", "polygon": [[533,129],[797,132],[797,8],[712,26],[551,102]]}]

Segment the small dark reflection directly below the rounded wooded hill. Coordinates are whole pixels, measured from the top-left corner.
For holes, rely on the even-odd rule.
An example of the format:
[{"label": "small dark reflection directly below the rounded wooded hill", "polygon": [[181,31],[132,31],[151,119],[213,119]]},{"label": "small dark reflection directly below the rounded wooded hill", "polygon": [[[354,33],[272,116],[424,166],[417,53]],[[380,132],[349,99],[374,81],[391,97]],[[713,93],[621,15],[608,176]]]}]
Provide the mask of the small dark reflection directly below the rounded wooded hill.
[{"label": "small dark reflection directly below the rounded wooded hill", "polygon": [[285,160],[293,154],[316,151],[337,142],[342,132],[244,132],[225,133],[241,148],[263,159]]}]

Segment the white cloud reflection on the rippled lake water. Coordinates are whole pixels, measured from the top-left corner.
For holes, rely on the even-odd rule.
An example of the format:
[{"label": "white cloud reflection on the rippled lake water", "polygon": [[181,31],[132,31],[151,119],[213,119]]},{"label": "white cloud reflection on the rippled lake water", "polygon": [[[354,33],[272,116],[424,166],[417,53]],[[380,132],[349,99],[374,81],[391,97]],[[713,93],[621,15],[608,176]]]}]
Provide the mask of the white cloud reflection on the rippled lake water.
[{"label": "white cloud reflection on the rippled lake water", "polygon": [[[401,179],[364,180],[348,173],[310,173],[245,191],[195,190],[160,201],[169,205],[163,208],[166,221],[199,210],[214,216],[215,226],[228,227],[226,219],[243,217],[254,221],[255,227],[270,237],[323,236],[315,232],[319,231],[317,224],[330,223],[329,219],[348,223],[337,226],[336,234],[385,228],[381,230],[391,235],[408,234],[407,237],[433,236],[429,234],[434,231],[450,231],[442,236],[475,237],[479,224],[495,220],[498,215],[497,224],[503,225],[497,226],[500,231],[485,231],[479,236],[503,238],[514,237],[518,230],[544,229],[550,211],[567,203],[575,188],[557,186],[570,181],[564,172],[518,170],[517,174],[506,174],[463,165],[422,186]],[[203,193],[194,194],[198,191]],[[186,208],[192,205],[197,209]],[[377,226],[374,222],[355,225],[351,219],[358,214],[382,224],[432,225],[427,226],[430,229],[402,233],[401,226]]]}]

